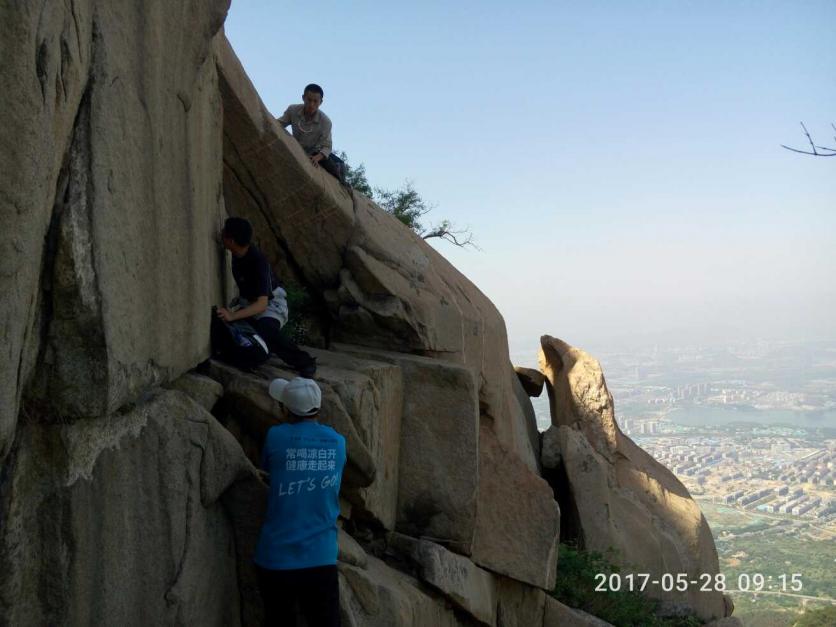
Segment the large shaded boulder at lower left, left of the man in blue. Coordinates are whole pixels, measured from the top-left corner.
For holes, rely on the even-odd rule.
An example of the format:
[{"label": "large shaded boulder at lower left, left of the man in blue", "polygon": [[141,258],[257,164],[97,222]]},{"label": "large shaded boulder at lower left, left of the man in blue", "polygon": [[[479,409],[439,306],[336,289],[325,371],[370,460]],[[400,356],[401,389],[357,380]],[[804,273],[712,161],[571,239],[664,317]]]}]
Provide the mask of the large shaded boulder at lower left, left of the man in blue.
[{"label": "large shaded boulder at lower left, left of the man in blue", "polygon": [[[240,623],[240,512],[222,497],[258,480],[234,438],[185,395],[22,426],[5,473],[4,623]],[[239,504],[258,515],[258,498]]]}]

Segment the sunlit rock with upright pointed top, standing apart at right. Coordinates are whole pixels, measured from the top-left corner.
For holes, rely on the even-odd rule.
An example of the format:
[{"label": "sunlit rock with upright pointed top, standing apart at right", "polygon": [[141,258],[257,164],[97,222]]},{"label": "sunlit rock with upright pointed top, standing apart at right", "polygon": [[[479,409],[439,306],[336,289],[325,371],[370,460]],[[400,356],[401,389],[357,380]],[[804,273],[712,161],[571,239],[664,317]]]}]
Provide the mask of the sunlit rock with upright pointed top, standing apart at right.
[{"label": "sunlit rock with upright pointed top, standing apart at right", "polygon": [[[563,511],[576,517],[569,524],[581,543],[601,552],[614,548],[622,572],[657,579],[688,573],[695,580],[717,573],[717,551],[699,507],[667,468],[621,433],[598,362],[548,335],[540,341],[552,410],[542,463],[564,478],[556,492]],[[669,609],[687,608],[704,620],[725,615],[719,592],[652,593]]]}]

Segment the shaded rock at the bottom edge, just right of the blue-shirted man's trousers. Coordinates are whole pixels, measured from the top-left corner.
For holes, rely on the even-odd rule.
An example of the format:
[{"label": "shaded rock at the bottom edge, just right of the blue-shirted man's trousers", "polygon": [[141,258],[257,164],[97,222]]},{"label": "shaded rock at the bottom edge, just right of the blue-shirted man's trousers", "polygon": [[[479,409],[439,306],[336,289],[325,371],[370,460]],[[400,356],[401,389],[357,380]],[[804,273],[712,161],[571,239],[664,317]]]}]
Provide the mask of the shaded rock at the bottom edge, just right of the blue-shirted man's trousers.
[{"label": "shaded rock at the bottom edge, just right of the blue-shirted man's trousers", "polygon": [[365,569],[340,563],[343,624],[357,627],[425,627],[458,625],[446,603],[428,595],[409,575],[369,557]]}]

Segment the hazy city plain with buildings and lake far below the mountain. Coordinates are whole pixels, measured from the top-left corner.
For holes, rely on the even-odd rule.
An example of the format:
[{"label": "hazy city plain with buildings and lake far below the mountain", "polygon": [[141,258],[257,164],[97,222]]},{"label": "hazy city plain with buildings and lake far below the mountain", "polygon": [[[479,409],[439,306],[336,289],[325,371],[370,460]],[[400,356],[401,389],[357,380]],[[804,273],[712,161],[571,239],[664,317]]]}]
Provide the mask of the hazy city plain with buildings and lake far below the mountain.
[{"label": "hazy city plain with buildings and lake far below the mountain", "polygon": [[[802,573],[803,592],[730,588],[744,624],[836,603],[836,341],[593,353],[621,430],[700,504],[721,570]],[[539,428],[546,394],[532,399]]]}]

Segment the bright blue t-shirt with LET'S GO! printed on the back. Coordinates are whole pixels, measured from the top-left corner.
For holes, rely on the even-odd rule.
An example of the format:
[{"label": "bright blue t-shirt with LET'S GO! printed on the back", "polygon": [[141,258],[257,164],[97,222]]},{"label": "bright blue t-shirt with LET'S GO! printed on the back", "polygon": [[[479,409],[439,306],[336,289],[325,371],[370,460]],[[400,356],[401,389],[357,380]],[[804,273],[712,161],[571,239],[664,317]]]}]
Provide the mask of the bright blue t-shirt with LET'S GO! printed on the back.
[{"label": "bright blue t-shirt with LET'S GO! printed on the back", "polygon": [[270,498],[255,563],[270,570],[336,564],[345,438],[315,421],[277,425],[261,465]]}]

